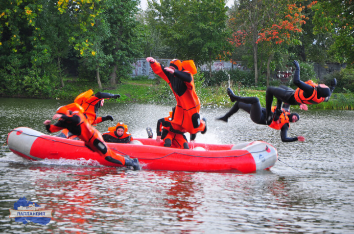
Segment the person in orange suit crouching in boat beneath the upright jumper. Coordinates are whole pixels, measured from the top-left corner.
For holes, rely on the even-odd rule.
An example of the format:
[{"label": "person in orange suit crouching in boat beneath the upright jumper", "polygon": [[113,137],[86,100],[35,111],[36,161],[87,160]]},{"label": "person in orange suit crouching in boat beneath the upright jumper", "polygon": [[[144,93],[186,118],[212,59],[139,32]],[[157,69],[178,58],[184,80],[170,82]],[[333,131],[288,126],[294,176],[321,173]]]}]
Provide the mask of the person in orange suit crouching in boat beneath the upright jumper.
[{"label": "person in orange suit crouching in boat beneath the upright jumper", "polygon": [[164,140],[164,147],[172,147],[178,149],[189,149],[188,141],[185,134],[172,128],[175,107],[169,112],[169,116],[161,118],[157,121],[156,141]]}]

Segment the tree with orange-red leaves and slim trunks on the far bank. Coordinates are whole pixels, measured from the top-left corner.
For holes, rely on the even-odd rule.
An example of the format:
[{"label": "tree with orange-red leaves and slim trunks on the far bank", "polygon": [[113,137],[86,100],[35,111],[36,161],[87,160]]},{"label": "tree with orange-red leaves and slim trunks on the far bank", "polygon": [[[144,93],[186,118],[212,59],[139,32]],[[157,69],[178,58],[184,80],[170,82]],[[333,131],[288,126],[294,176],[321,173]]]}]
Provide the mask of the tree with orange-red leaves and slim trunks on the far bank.
[{"label": "tree with orange-red leaves and slim trunks on the far bank", "polygon": [[[296,34],[301,32],[301,25],[305,23],[302,9],[303,7],[297,7],[288,0],[242,0],[231,14],[229,24],[233,28],[234,38],[241,38],[242,44],[250,43],[252,46],[255,85],[259,76],[259,44],[263,43],[263,48],[267,51],[269,79],[270,61],[280,49],[278,45],[299,43]],[[237,43],[234,45],[239,46]]]}]

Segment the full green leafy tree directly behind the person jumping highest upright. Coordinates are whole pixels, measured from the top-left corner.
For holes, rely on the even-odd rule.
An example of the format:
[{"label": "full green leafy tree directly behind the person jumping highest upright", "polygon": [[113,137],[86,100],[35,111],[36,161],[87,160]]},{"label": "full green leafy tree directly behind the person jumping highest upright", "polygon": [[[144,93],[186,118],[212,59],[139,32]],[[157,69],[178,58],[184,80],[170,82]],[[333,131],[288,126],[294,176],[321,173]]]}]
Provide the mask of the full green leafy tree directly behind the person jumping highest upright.
[{"label": "full green leafy tree directly behind the person jumping highest upright", "polygon": [[[227,46],[225,2],[222,0],[156,0],[150,2],[156,26],[172,54],[197,64],[216,59]],[[210,69],[211,70],[211,69]]]}]

